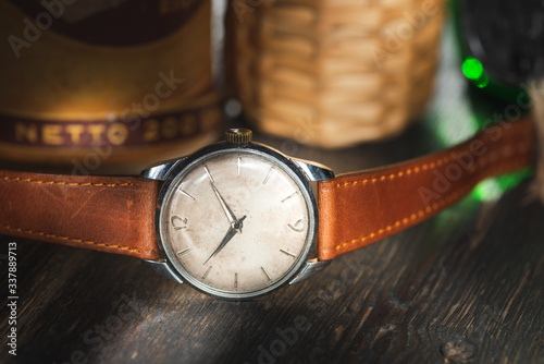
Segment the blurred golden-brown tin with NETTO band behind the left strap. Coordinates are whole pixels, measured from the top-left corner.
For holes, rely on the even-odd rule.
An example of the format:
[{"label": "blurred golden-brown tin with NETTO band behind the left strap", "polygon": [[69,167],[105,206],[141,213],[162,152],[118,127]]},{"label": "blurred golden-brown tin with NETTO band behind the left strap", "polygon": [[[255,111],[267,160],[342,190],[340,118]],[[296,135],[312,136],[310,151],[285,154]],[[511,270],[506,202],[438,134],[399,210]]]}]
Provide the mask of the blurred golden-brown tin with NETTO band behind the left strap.
[{"label": "blurred golden-brown tin with NETTO band behind the left strap", "polygon": [[0,0],[0,159],[66,166],[98,145],[106,168],[209,143],[210,14],[210,0]]}]

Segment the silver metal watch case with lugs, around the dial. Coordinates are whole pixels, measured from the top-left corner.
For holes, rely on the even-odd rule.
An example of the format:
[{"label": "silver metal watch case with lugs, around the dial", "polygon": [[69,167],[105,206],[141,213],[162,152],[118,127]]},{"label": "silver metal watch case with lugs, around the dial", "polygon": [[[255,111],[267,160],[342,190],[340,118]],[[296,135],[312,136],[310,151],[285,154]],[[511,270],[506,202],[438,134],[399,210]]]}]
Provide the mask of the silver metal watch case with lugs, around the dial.
[{"label": "silver metal watch case with lugs, around the dial", "polygon": [[184,277],[183,272],[176,268],[175,264],[171,262],[171,258],[168,255],[168,250],[164,246],[164,235],[161,228],[161,215],[163,213],[163,205],[168,202],[169,192],[173,186],[173,182],[176,177],[193,166],[193,163],[198,162],[201,158],[222,153],[222,151],[232,151],[244,149],[244,151],[256,153],[260,155],[265,155],[268,157],[272,157],[279,165],[284,166],[286,169],[290,170],[293,174],[295,174],[300,184],[307,192],[308,199],[310,201],[309,208],[310,215],[312,216],[312,228],[309,231],[309,243],[307,243],[305,254],[301,256],[300,262],[297,267],[294,268],[290,274],[286,277],[282,278],[276,283],[261,290],[257,290],[256,292],[249,292],[247,294],[233,294],[230,292],[223,291],[214,291],[214,290],[206,290],[198,286],[190,284],[199,291],[205,293],[220,296],[223,299],[250,299],[255,296],[259,296],[265,293],[270,293],[280,287],[289,283],[296,283],[302,279],[306,279],[313,275],[314,272],[326,267],[331,260],[318,260],[317,258],[317,242],[318,242],[318,231],[319,231],[319,211],[318,205],[316,202],[316,197],[313,194],[313,190],[310,185],[311,181],[322,181],[334,178],[334,172],[320,163],[306,161],[301,159],[290,158],[288,156],[283,155],[279,150],[275,150],[269,146],[259,144],[259,143],[247,143],[242,145],[235,145],[227,142],[221,142],[217,144],[212,144],[202,149],[197,150],[196,153],[177,159],[173,161],[168,161],[152,168],[146,169],[141,172],[141,177],[146,179],[157,180],[162,182],[158,195],[157,201],[157,209],[154,214],[154,226],[156,226],[156,234],[157,241],[159,245],[159,250],[162,256],[160,260],[144,260],[145,265],[154,270],[156,272],[173,279],[178,283],[189,282],[190,279]]}]

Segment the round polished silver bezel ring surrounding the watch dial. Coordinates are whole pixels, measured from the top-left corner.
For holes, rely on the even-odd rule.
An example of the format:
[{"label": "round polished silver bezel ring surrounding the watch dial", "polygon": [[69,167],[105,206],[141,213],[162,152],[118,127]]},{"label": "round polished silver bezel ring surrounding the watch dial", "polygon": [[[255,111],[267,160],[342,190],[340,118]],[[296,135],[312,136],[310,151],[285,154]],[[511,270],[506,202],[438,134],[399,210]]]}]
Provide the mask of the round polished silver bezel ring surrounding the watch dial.
[{"label": "round polished silver bezel ring surrounding the watch dial", "polygon": [[[180,263],[177,263],[176,257],[173,255],[173,253],[171,253],[171,251],[166,246],[168,241],[163,225],[163,217],[168,213],[168,205],[170,202],[170,197],[173,191],[175,190],[176,182],[178,181],[178,179],[183,178],[183,175],[185,175],[188,171],[190,171],[195,163],[200,162],[202,159],[207,157],[212,157],[213,155],[220,155],[225,153],[239,153],[239,151],[252,153],[256,155],[261,155],[267,159],[272,159],[272,162],[276,163],[279,167],[284,169],[287,172],[287,174],[289,174],[293,178],[293,180],[298,185],[305,197],[308,208],[309,223],[308,223],[308,234],[306,238],[304,250],[300,253],[298,260],[289,271],[287,271],[281,279],[279,279],[277,281],[265,288],[252,290],[249,292],[236,293],[231,291],[213,289],[210,288],[209,286],[206,286],[205,283],[199,282],[196,278],[194,278],[190,274],[188,274]],[[304,270],[306,263],[309,260],[309,255],[312,252],[314,252],[317,247],[318,231],[319,231],[319,211],[318,211],[318,204],[313,195],[313,190],[309,183],[308,178],[306,177],[304,171],[300,170],[297,163],[295,163],[289,157],[262,144],[247,143],[243,145],[234,145],[231,143],[221,142],[207,146],[200,150],[197,150],[193,155],[180,159],[178,161],[173,163],[173,166],[170,168],[168,174],[164,178],[164,182],[161,189],[159,190],[156,216],[154,216],[154,226],[156,226],[156,235],[157,235],[159,251],[162,257],[164,258],[165,264],[169,266],[172,272],[177,278],[180,278],[180,280],[189,283],[193,288],[206,294],[210,294],[221,299],[240,301],[271,293],[280,289],[281,287],[287,284],[294,277],[297,277],[297,275]]]}]

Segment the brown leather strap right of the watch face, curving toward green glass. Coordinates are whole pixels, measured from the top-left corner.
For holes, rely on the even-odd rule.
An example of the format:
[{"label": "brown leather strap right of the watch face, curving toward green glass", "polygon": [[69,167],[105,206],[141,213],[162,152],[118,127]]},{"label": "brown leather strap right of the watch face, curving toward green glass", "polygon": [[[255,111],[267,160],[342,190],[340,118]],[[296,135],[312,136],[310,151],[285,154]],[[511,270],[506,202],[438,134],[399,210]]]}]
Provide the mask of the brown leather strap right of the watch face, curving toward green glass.
[{"label": "brown leather strap right of the watch face, curving toward green glass", "polygon": [[319,183],[319,258],[369,245],[436,215],[483,179],[530,166],[531,120],[494,125],[446,150]]}]

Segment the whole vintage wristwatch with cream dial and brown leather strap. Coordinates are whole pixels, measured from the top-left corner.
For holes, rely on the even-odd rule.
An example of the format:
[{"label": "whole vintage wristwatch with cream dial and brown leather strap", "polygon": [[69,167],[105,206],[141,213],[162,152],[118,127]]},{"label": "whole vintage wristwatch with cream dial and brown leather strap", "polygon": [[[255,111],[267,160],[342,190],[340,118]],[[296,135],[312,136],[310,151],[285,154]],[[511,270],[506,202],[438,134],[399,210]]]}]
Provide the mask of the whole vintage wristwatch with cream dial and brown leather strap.
[{"label": "whole vintage wristwatch with cream dial and brown leather strap", "polygon": [[449,149],[337,177],[245,129],[138,177],[0,170],[0,233],[134,256],[211,295],[249,299],[530,166],[533,134],[530,120],[504,122]]}]

